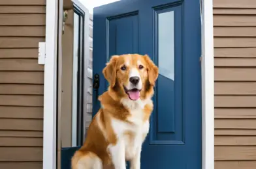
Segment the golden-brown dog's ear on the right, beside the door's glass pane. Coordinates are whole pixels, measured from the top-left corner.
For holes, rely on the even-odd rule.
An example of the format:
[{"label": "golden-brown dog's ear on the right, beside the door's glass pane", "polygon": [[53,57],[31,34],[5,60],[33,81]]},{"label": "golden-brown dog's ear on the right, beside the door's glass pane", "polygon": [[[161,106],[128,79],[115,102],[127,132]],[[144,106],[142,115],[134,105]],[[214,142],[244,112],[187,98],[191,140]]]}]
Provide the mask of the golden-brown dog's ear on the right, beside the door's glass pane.
[{"label": "golden-brown dog's ear on the right, beside the door's glass pane", "polygon": [[148,57],[148,55],[144,55],[144,59],[148,64],[148,81],[150,81],[150,85],[155,86],[155,81],[158,77],[158,68],[155,66],[150,57]]}]

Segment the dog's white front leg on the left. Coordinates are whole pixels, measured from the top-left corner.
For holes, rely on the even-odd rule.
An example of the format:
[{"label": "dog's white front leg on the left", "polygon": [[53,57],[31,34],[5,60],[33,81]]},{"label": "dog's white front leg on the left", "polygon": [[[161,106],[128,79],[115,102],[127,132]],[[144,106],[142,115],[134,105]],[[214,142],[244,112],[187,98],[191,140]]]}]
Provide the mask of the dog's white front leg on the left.
[{"label": "dog's white front leg on the left", "polygon": [[123,141],[117,142],[114,146],[109,146],[109,151],[112,156],[112,162],[115,169],[126,169],[125,166],[125,144]]}]

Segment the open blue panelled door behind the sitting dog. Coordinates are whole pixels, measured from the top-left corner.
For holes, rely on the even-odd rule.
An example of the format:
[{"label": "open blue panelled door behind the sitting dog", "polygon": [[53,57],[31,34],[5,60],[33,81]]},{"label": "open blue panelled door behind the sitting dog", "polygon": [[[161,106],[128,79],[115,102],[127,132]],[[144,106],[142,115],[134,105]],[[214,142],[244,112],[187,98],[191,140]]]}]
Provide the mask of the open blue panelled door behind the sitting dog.
[{"label": "open blue panelled door behind the sitting dog", "polygon": [[93,114],[112,55],[148,54],[159,66],[142,169],[202,168],[200,38],[199,0],[123,0],[94,9],[93,74],[100,86]]}]

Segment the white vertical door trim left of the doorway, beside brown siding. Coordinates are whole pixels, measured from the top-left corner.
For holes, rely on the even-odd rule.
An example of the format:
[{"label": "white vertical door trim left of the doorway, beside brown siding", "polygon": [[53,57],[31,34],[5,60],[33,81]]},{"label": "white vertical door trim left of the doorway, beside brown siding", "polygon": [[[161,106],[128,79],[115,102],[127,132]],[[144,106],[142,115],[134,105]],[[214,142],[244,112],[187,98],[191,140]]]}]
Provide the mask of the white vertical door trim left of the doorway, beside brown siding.
[{"label": "white vertical door trim left of the doorway, beside brown siding", "polygon": [[46,60],[44,64],[43,169],[56,169],[57,18],[58,0],[46,0]]}]

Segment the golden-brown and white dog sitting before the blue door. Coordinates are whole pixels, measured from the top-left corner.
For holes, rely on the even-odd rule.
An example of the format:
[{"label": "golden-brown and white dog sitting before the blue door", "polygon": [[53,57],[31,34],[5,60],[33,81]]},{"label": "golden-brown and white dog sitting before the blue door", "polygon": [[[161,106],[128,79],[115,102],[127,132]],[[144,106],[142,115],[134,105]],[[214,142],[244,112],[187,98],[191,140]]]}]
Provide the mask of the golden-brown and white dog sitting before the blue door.
[{"label": "golden-brown and white dog sitting before the blue door", "polygon": [[114,55],[103,69],[108,90],[91,121],[72,169],[140,169],[142,143],[150,129],[158,68],[148,55]]}]

